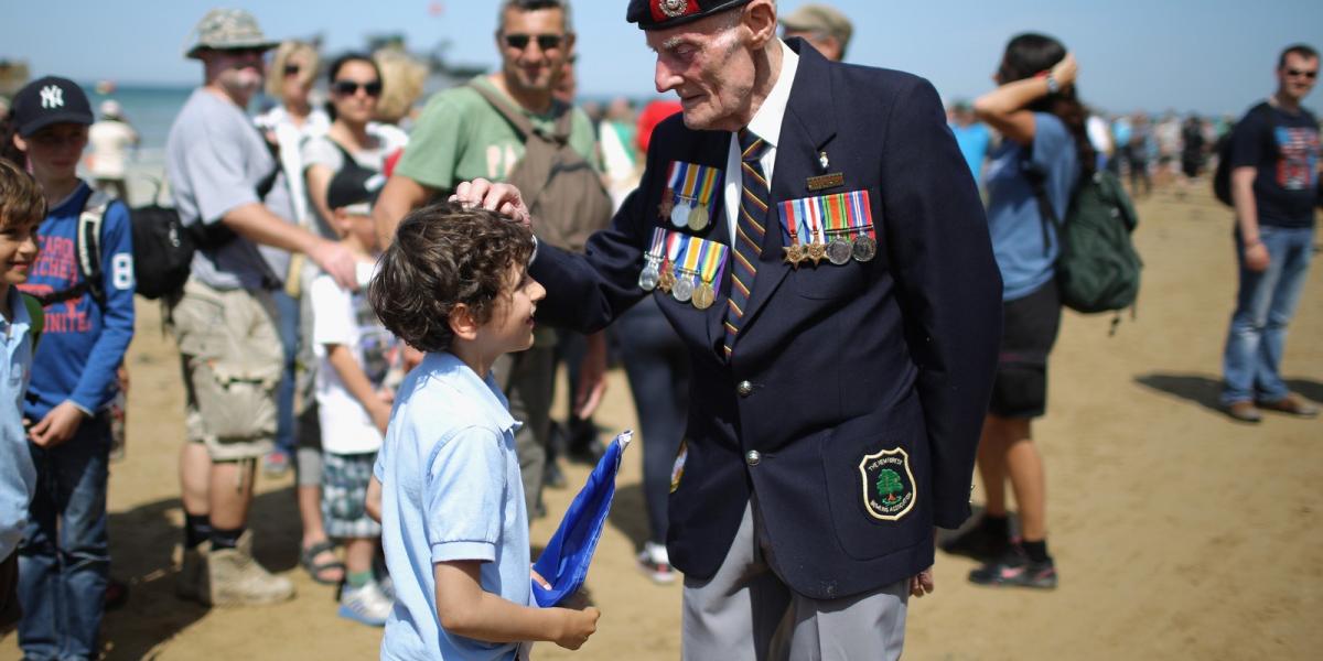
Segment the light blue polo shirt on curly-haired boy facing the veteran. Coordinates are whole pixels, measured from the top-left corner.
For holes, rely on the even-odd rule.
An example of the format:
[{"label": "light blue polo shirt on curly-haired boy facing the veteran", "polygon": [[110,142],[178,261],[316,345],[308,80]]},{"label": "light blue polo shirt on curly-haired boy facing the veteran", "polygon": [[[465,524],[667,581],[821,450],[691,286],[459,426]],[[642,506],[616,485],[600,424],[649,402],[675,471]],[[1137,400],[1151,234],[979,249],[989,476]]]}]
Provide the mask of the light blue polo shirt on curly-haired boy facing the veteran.
[{"label": "light blue polo shirt on curly-haired boy facing the veteran", "polygon": [[400,386],[373,468],[396,587],[381,658],[508,660],[519,652],[443,631],[433,574],[438,562],[483,561],[483,590],[532,604],[519,427],[492,375],[479,378],[450,353],[429,353]]}]

